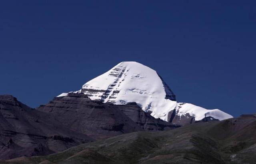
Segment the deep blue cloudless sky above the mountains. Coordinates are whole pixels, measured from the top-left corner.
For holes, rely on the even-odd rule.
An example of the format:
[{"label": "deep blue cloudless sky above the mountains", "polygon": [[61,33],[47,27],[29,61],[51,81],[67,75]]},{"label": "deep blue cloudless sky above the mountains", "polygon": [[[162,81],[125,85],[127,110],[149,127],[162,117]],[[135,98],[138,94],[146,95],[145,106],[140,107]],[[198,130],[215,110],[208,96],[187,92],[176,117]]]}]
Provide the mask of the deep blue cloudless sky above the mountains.
[{"label": "deep blue cloudless sky above the mountains", "polygon": [[0,94],[31,107],[137,61],[179,102],[256,113],[255,55],[254,0],[0,2]]}]

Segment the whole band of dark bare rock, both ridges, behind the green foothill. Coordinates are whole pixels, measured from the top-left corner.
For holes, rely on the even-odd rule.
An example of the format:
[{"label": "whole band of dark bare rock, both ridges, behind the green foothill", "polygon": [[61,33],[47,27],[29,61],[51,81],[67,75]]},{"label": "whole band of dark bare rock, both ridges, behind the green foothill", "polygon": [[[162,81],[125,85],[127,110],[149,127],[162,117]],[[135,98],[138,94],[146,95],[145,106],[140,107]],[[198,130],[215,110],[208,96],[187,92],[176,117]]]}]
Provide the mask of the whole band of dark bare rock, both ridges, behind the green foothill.
[{"label": "whole band of dark bare rock, both ridges, behind the green foothill", "polygon": [[136,131],[179,127],[145,113],[136,103],[114,105],[68,94],[32,109],[0,96],[0,160],[47,155],[78,144]]}]

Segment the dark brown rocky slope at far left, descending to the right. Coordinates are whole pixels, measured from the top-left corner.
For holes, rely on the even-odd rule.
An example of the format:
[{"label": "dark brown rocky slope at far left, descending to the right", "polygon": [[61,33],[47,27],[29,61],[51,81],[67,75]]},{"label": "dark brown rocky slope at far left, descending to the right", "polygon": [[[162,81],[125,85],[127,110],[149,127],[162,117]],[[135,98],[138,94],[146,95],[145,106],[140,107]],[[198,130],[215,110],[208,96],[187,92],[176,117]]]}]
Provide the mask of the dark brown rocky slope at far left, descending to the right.
[{"label": "dark brown rocky slope at far left, descending to the right", "polygon": [[12,96],[0,96],[0,159],[46,155],[94,141],[62,127]]}]

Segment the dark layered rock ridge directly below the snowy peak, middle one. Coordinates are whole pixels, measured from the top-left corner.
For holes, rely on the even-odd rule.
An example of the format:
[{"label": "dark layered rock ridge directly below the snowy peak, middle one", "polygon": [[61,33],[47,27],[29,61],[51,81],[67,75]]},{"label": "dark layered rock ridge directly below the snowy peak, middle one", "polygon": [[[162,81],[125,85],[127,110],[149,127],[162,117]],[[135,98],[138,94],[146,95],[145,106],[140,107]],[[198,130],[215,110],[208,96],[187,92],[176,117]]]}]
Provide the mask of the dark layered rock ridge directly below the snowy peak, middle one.
[{"label": "dark layered rock ridge directly below the snowy peak, middle one", "polygon": [[179,127],[155,119],[136,103],[102,103],[90,100],[85,94],[70,93],[64,97],[57,97],[37,110],[48,113],[49,117],[62,126],[84,133],[93,139],[105,139],[135,131],[162,131]]}]

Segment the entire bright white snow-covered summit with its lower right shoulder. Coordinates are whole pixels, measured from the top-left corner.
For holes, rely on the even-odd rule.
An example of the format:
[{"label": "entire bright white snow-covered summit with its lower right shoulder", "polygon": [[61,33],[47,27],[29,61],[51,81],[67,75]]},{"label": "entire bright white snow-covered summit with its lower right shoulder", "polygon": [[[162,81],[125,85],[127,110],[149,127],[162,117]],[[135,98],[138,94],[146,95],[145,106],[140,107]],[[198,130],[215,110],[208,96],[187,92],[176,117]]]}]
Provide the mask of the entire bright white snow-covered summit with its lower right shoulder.
[{"label": "entire bright white snow-covered summit with its lower right shoulder", "polygon": [[[232,118],[219,109],[208,110],[190,103],[176,102],[174,93],[157,72],[138,62],[120,62],[72,93],[84,93],[92,100],[115,104],[136,102],[144,111],[165,121],[169,111],[174,109],[178,115],[189,113],[195,120],[208,116],[219,120]],[[62,93],[58,97],[66,95]]]}]

